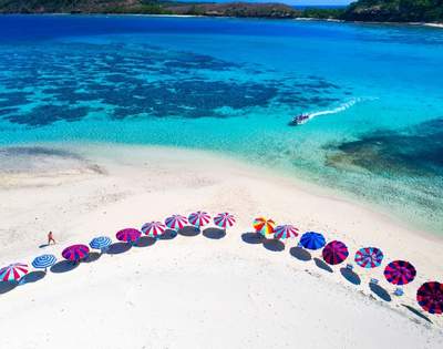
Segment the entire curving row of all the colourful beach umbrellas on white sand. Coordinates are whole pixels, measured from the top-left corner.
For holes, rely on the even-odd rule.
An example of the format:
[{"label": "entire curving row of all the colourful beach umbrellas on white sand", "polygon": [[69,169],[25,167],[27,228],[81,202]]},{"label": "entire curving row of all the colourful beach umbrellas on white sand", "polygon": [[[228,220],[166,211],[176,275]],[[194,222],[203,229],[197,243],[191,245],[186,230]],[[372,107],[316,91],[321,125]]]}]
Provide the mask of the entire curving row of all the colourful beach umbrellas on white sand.
[{"label": "entire curving row of all the colourful beach umbrellas on white sand", "polygon": [[[220,213],[213,218],[216,226],[227,229],[231,227],[236,219],[229,213]],[[148,237],[158,238],[165,234],[166,229],[178,230],[187,225],[193,225],[196,229],[208,225],[210,216],[206,212],[198,211],[192,213],[188,217],[182,215],[172,215],[167,217],[164,223],[150,222],[142,226],[138,230],[136,228],[125,228],[115,234],[116,238],[121,242],[134,244],[142,234]],[[292,225],[279,225],[272,219],[258,217],[254,219],[253,226],[256,233],[261,234],[264,237],[288,239],[295,238],[299,235],[299,229]],[[112,244],[112,239],[107,236],[99,236],[90,242],[90,247],[105,252]],[[326,263],[330,265],[338,265],[343,263],[349,257],[349,250],[344,243],[332,240],[326,243],[322,234],[316,232],[307,232],[300,237],[299,246],[318,250],[322,249],[322,257]],[[86,245],[78,244],[63,249],[63,258],[72,261],[79,261],[90,254],[90,247]],[[383,260],[383,253],[377,247],[360,248],[354,256],[357,265],[363,268],[375,268],[381,265]],[[34,268],[48,269],[56,263],[56,257],[53,255],[42,255],[33,259],[32,266]],[[16,263],[0,269],[0,281],[20,280],[29,271],[27,264]],[[387,280],[394,285],[406,285],[414,280],[416,270],[412,264],[405,260],[394,260],[387,265],[384,269],[384,277]],[[431,314],[443,314],[443,284],[437,281],[430,281],[423,284],[416,294],[419,305]]]}]

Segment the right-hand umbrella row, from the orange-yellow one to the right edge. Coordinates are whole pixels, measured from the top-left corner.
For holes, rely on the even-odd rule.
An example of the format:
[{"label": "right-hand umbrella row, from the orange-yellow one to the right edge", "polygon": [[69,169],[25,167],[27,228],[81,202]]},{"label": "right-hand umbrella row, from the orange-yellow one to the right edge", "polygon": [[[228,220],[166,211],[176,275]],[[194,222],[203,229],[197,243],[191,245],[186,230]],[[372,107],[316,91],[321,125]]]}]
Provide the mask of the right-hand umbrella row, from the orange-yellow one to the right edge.
[{"label": "right-hand umbrella row, from the orange-yellow one to the right edge", "polygon": [[[285,240],[299,235],[299,229],[292,225],[276,226],[274,219],[257,217],[253,222],[256,233],[265,238]],[[307,232],[301,235],[299,246],[306,249],[317,250],[323,248],[321,254],[323,260],[329,265],[338,265],[349,257],[348,246],[339,240],[326,243],[322,234]],[[382,264],[383,253],[377,247],[360,248],[354,256],[354,261],[362,268],[377,268]],[[415,267],[406,260],[393,260],[384,268],[385,279],[398,286],[412,283],[416,276]],[[416,295],[419,305],[431,314],[443,312],[443,284],[432,281],[423,284]]]}]

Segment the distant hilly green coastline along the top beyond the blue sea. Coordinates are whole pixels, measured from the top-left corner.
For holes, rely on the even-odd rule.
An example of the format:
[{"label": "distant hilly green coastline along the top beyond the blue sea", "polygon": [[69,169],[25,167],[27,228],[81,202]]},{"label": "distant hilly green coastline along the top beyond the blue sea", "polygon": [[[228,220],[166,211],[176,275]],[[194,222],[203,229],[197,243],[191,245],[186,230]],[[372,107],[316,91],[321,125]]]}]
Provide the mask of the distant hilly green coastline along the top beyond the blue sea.
[{"label": "distant hilly green coastline along the top beyond the blue sea", "polygon": [[0,0],[0,13],[134,13],[365,22],[443,22],[443,0],[359,0],[343,8],[168,0]]}]

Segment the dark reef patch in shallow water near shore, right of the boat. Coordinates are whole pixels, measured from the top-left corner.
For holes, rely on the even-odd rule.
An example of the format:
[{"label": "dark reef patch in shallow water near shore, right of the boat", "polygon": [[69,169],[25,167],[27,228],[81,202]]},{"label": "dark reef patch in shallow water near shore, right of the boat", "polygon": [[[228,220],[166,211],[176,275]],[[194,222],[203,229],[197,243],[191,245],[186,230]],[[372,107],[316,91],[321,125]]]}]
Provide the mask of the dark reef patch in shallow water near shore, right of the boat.
[{"label": "dark reef patch in shallow water near shore, right of the boat", "polygon": [[443,174],[443,117],[402,132],[377,131],[360,140],[328,145],[328,165],[354,165],[380,175]]}]

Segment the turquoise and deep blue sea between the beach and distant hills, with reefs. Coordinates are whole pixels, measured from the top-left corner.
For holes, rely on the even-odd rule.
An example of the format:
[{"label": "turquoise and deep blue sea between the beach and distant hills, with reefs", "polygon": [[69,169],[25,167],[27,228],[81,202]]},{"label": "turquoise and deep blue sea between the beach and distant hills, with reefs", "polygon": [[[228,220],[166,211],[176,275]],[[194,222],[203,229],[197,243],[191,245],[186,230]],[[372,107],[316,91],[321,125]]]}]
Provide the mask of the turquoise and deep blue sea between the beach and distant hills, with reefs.
[{"label": "turquoise and deep blue sea between the beach and distant hills, with reefs", "polygon": [[443,234],[442,62],[424,27],[3,16],[0,165],[38,142],[210,150]]}]

